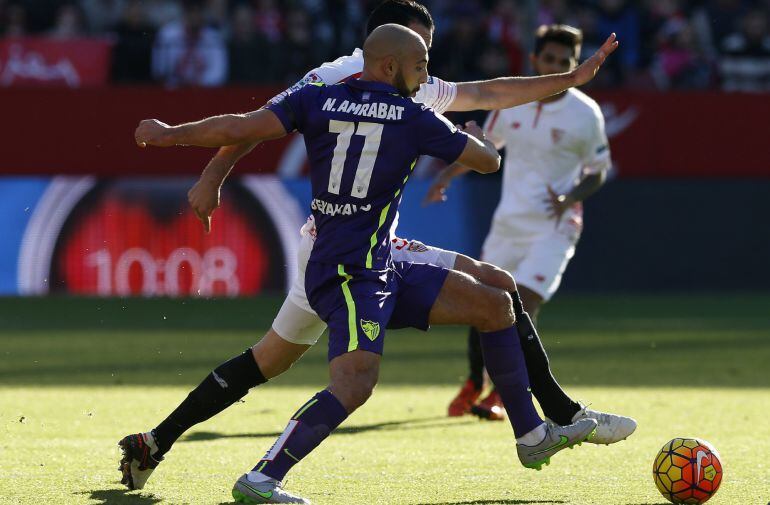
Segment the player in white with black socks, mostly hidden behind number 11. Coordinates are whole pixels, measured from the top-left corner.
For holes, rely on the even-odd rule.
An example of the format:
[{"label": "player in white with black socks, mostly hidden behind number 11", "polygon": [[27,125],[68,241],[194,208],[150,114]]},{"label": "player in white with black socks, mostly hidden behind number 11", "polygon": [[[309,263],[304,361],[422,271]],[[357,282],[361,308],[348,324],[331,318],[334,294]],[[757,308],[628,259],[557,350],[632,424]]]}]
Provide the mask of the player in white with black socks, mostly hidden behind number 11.
[{"label": "player in white with black socks, mostly hidden behind number 11", "polygon": [[[371,32],[377,26],[386,23],[396,23],[413,29],[430,48],[433,38],[433,19],[425,6],[412,0],[386,0],[372,11],[367,22],[367,30]],[[590,79],[603,59],[616,46],[617,42],[614,42],[614,36],[611,36],[602,48],[582,65],[572,69],[571,72],[558,75],[532,78],[503,77],[461,83],[445,82],[431,76],[428,82],[420,87],[414,100],[434,108],[437,112],[505,108],[523,104],[533,99],[562,92],[569,86],[579,85]],[[352,55],[343,56],[311,70],[304,79],[278,96],[284,96],[308,82],[335,84],[358,76],[362,68],[362,52],[360,49],[356,49]],[[247,142],[241,145],[222,147],[207,165],[200,180],[190,190],[190,205],[200,217],[206,231],[211,227],[212,212],[219,205],[219,188],[235,162],[254,145],[256,143]],[[312,229],[309,226],[306,228]],[[528,318],[519,301],[516,283],[508,272],[490,263],[477,261],[453,251],[423,245],[416,241],[410,242],[398,238],[393,240],[394,243],[399,244],[393,247],[393,254],[396,257],[460,270],[484,284],[505,289],[511,293],[522,334],[522,346],[530,373],[532,392],[549,419],[558,424],[570,424],[575,416],[596,419],[599,422],[597,436],[591,440],[596,443],[610,444],[627,436],[627,432],[619,433],[615,427],[623,422],[633,424],[630,418],[584,408],[562,390],[551,373],[548,355],[534,326],[528,323]],[[317,342],[326,328],[323,321],[310,307],[305,293],[304,265],[311,248],[312,239],[304,236],[299,245],[298,278],[289,290],[271,328],[252,347],[254,360],[266,380],[286,371],[310,346]],[[467,388],[468,400],[475,401],[480,394],[480,389],[472,383],[469,386]],[[471,404],[472,401],[463,401],[460,408],[454,409],[454,412],[450,408],[450,412],[452,412],[450,415],[466,413]],[[502,416],[500,418],[502,419]],[[166,452],[181,433],[179,430],[163,433],[167,440],[160,444],[160,454]]]}]

